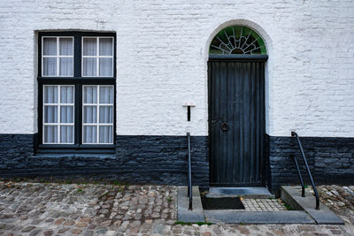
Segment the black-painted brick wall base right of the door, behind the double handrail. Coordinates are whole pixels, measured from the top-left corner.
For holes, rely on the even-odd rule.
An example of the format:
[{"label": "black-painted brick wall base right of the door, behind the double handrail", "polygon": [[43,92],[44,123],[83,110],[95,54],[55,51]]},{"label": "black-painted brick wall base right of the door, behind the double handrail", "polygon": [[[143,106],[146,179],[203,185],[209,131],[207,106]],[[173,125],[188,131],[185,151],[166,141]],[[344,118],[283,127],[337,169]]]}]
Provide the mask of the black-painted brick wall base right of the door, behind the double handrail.
[{"label": "black-painted brick wall base right of the door, behind the double handrail", "polygon": [[[352,184],[354,178],[354,138],[302,137],[307,162],[315,184]],[[295,138],[267,136],[269,187],[275,192],[281,185],[299,184],[295,155],[308,186],[311,182]]]}]

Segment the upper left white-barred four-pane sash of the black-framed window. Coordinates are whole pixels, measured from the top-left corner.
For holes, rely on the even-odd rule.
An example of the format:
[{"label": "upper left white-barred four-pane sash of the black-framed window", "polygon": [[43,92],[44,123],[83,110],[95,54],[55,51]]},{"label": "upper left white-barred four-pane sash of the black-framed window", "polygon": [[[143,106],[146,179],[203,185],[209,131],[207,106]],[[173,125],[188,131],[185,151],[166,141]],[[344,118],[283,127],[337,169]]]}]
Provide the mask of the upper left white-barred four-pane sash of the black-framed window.
[{"label": "upper left white-barred four-pane sash of the black-framed window", "polygon": [[73,37],[42,37],[42,76],[73,76]]}]

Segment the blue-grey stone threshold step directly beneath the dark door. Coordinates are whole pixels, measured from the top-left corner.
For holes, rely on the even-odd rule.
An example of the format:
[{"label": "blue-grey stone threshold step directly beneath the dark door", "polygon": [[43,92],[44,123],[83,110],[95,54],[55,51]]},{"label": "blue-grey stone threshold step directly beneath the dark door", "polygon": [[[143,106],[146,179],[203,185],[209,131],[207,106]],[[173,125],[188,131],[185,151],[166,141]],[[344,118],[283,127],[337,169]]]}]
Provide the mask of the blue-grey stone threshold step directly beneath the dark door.
[{"label": "blue-grey stone threshold step directly beneath the dark door", "polygon": [[266,187],[210,187],[205,197],[274,198]]}]

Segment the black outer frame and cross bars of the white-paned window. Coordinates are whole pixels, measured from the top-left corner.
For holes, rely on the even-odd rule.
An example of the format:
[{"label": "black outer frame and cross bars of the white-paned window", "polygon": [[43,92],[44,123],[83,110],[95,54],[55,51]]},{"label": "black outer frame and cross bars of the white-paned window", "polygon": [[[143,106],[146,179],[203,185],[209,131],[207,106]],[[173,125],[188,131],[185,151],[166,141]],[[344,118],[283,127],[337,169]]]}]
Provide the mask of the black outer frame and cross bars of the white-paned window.
[{"label": "black outer frame and cross bars of the white-paned window", "polygon": [[[73,36],[73,77],[42,76],[42,37]],[[81,43],[82,37],[113,37],[113,76],[112,77],[83,77],[81,75]],[[116,145],[116,48],[115,33],[102,32],[39,32],[38,33],[38,143],[36,153],[114,153]],[[43,85],[73,85],[74,86],[74,144],[43,144],[42,141],[42,103]],[[82,86],[83,85],[112,85],[113,86],[113,143],[112,144],[82,144]],[[98,131],[97,131],[98,132]]]}]

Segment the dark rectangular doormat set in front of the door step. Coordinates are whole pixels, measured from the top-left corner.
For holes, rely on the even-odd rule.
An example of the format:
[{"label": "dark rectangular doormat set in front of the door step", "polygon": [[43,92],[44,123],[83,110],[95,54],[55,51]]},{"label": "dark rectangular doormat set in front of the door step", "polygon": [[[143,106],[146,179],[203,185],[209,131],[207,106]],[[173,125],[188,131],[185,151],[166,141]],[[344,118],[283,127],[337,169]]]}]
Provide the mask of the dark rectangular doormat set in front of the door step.
[{"label": "dark rectangular doormat set in front of the door step", "polygon": [[202,198],[203,209],[244,209],[239,197],[204,197]]}]

